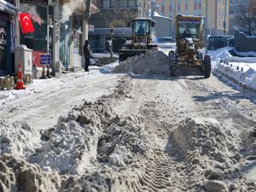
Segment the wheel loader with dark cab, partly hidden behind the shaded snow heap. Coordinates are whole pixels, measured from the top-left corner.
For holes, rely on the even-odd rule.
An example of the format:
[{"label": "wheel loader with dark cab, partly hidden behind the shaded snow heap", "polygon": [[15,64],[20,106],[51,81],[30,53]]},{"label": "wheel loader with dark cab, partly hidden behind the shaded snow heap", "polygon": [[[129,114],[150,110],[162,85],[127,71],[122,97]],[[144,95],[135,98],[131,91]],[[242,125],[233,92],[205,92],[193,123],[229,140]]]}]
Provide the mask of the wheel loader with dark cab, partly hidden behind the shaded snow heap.
[{"label": "wheel loader with dark cab, partly hidden behind the shaded snow heap", "polygon": [[119,61],[128,57],[146,53],[148,49],[158,50],[158,45],[152,42],[152,32],[155,21],[149,18],[135,18],[131,20],[131,40],[125,42],[119,49]]}]

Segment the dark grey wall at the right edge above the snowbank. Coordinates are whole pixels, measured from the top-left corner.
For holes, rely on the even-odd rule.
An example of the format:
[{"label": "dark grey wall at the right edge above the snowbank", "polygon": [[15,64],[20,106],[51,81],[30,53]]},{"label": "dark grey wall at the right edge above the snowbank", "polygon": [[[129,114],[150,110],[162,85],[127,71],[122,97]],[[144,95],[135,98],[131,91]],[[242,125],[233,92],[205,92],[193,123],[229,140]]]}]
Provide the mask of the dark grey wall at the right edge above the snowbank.
[{"label": "dark grey wall at the right edge above the snowbank", "polygon": [[256,36],[247,36],[244,32],[234,30],[234,46],[239,52],[255,51],[256,52]]}]

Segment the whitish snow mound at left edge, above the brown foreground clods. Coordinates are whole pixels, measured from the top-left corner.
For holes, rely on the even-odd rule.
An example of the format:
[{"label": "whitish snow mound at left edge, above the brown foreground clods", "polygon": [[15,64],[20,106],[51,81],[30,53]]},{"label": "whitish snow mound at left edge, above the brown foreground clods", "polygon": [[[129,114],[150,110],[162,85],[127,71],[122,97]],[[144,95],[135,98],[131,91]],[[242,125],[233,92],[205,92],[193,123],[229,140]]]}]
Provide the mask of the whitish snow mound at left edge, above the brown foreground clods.
[{"label": "whitish snow mound at left edge, above the brown foreground clods", "polygon": [[0,120],[0,154],[26,156],[39,147],[40,134],[32,129],[26,121],[10,123]]}]

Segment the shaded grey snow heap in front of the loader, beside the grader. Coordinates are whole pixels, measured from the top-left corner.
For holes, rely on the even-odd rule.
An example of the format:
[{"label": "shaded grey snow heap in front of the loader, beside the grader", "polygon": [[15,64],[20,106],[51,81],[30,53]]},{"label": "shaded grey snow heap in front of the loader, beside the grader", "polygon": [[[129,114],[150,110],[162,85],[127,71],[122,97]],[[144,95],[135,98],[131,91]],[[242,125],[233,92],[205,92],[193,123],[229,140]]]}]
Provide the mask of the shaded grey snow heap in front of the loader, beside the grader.
[{"label": "shaded grey snow heap in front of the loader, beside the grader", "polygon": [[119,63],[114,72],[136,74],[168,74],[168,56],[162,51],[147,50],[145,54],[129,57]]}]

